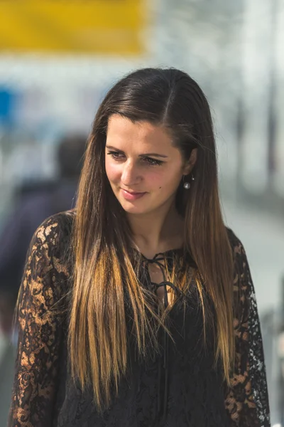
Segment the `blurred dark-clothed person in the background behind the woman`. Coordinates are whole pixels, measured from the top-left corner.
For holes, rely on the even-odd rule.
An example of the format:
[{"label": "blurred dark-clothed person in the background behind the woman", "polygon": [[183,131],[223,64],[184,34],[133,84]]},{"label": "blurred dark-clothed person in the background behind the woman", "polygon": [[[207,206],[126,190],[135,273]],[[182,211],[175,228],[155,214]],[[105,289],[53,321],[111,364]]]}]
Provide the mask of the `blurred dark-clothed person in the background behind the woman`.
[{"label": "blurred dark-clothed person in the background behind the woman", "polygon": [[28,245],[45,218],[75,204],[85,143],[84,135],[65,136],[58,145],[55,159],[58,180],[23,184],[16,191],[13,211],[0,236],[0,327],[6,337],[11,336]]}]

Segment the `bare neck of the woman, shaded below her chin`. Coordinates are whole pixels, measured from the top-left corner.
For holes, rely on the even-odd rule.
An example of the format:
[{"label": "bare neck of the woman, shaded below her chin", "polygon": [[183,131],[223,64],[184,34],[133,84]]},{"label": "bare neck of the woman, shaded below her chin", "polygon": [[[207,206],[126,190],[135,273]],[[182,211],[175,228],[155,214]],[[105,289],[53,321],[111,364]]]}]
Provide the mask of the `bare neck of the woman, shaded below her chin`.
[{"label": "bare neck of the woman, shaded below her chin", "polygon": [[129,215],[129,224],[133,233],[133,241],[138,251],[147,258],[156,253],[180,248],[184,242],[184,221],[175,206],[167,211],[151,212],[143,215]]}]

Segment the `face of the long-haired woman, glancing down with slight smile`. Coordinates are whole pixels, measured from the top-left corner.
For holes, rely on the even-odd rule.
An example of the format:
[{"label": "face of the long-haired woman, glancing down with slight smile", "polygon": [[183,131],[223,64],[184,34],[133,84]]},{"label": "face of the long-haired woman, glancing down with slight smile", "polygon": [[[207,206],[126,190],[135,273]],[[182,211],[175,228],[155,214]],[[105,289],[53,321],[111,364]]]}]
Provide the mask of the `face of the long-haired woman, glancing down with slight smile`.
[{"label": "face of the long-haired woman, glancing down with slight smile", "polygon": [[119,115],[109,119],[105,158],[111,189],[129,214],[170,208],[182,175],[192,169],[163,127]]}]

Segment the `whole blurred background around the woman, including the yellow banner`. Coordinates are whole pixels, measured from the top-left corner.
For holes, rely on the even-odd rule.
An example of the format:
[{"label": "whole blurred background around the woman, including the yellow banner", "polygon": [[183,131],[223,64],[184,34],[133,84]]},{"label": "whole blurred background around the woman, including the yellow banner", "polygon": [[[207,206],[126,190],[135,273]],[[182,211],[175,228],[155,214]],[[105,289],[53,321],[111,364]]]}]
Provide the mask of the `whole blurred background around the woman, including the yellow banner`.
[{"label": "whole blurred background around the woman, including the yellow banner", "polygon": [[283,46],[284,0],[1,0],[0,427],[11,310],[33,231],[74,206],[104,94],[155,65],[187,71],[209,99],[224,216],[256,288],[271,422],[284,426]]}]

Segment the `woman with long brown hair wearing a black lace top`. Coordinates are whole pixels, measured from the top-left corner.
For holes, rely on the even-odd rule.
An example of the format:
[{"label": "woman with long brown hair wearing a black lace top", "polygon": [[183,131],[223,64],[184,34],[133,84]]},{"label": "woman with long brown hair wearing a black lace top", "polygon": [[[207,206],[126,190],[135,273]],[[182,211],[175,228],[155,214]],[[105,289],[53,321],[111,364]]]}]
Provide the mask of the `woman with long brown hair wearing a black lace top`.
[{"label": "woman with long brown hair wearing a black lace top", "polygon": [[77,206],[35,232],[9,426],[268,427],[256,298],[206,97],[138,70],[94,120]]}]

